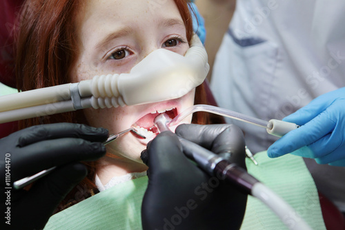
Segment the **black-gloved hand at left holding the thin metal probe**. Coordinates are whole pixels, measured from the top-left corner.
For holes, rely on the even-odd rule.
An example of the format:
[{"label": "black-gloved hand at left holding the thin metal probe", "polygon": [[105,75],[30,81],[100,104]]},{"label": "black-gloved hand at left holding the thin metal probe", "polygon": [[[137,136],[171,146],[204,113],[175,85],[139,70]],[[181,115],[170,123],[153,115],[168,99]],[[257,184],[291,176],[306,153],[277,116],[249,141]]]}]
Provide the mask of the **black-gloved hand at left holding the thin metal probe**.
[{"label": "black-gloved hand at left holding the thin metal probe", "polygon": [[[0,139],[1,185],[8,191],[1,193],[5,206],[1,213],[10,217],[2,218],[2,229],[43,229],[61,200],[86,176],[86,166],[78,162],[106,154],[101,142],[107,137],[108,130],[103,128],[58,123],[29,127]],[[53,166],[57,169],[37,180],[30,191],[6,189],[16,180]],[[10,214],[4,214],[8,208]]]}]

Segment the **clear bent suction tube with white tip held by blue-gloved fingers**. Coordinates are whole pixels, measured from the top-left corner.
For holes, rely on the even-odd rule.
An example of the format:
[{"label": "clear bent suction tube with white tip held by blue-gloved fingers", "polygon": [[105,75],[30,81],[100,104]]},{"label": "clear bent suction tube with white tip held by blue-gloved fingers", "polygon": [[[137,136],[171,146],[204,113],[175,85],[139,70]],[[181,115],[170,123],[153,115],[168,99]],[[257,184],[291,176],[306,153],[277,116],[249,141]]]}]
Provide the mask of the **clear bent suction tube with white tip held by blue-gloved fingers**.
[{"label": "clear bent suction tube with white tip held by blue-gloved fingers", "polygon": [[252,125],[257,125],[259,127],[263,127],[266,129],[268,134],[273,136],[282,137],[288,132],[293,129],[297,129],[299,126],[295,123],[289,123],[286,121],[279,121],[276,119],[271,119],[270,121],[264,121],[258,118],[253,118],[252,116],[248,116],[246,114],[240,114],[239,112],[231,111],[229,109],[224,109],[221,107],[216,107],[213,105],[193,105],[188,109],[181,112],[175,118],[173,118],[168,125],[177,125],[181,122],[186,116],[193,114],[195,112],[210,112],[212,114],[217,114],[220,116],[226,116],[228,118],[233,118],[238,121],[244,121],[246,123],[250,123]]}]

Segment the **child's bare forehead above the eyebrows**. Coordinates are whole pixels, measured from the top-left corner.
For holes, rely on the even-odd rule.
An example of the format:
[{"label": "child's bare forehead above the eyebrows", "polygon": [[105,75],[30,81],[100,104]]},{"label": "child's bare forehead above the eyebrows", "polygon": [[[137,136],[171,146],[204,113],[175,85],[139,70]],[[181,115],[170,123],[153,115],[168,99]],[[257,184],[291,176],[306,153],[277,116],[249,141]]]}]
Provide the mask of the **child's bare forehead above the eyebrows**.
[{"label": "child's bare forehead above the eyebrows", "polygon": [[145,39],[170,30],[172,24],[185,30],[174,0],[83,0],[76,29],[82,47],[99,48],[95,43],[103,43],[114,33]]}]

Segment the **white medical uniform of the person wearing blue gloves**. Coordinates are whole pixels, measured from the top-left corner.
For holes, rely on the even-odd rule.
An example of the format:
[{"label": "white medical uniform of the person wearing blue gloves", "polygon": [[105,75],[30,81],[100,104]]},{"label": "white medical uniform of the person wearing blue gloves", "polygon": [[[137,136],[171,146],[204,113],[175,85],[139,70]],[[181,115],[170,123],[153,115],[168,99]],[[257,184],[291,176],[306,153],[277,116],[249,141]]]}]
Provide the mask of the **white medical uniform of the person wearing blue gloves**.
[{"label": "white medical uniform of the person wearing blue gloves", "polygon": [[[220,107],[266,121],[344,87],[345,1],[237,1],[210,85]],[[253,152],[276,140],[261,127],[231,122]],[[306,163],[319,191],[345,211],[345,167]]]}]

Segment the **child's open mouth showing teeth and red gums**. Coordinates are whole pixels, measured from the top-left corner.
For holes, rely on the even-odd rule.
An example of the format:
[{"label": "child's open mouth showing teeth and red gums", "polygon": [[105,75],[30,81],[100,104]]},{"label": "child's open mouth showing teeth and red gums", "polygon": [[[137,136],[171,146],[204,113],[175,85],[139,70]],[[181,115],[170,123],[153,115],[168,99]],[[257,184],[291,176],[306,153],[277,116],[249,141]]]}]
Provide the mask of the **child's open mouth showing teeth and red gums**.
[{"label": "child's open mouth showing teeth and red gums", "polygon": [[167,114],[171,119],[173,119],[175,118],[175,116],[177,116],[177,109],[175,107],[172,107],[170,109],[159,110],[150,114],[146,114],[136,123],[134,123],[132,127],[135,127],[139,134],[146,136],[146,138],[150,138],[154,134],[158,133],[158,129],[157,127],[155,127],[153,121],[155,120],[156,116],[163,113]]}]

